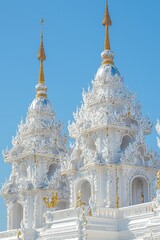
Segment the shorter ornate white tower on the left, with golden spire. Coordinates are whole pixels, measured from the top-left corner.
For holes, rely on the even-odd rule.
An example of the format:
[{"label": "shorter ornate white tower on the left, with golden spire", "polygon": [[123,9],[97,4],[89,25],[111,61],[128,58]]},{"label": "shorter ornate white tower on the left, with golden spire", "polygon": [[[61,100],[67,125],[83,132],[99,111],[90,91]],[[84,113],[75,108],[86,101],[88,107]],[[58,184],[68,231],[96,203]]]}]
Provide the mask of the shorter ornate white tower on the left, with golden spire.
[{"label": "shorter ornate white tower on the left, with golden spire", "polygon": [[60,159],[67,151],[67,137],[62,135],[61,123],[56,121],[47,98],[43,32],[38,59],[36,97],[29,106],[26,121],[18,126],[11,150],[4,152],[5,161],[12,164],[10,178],[2,188],[8,210],[8,230],[21,228],[24,239],[34,239],[34,229],[43,226],[44,212],[50,207],[53,210],[54,204],[49,203],[54,194],[59,201],[55,210],[68,207],[69,198],[69,186],[60,169]]}]

